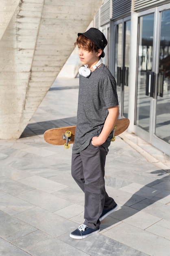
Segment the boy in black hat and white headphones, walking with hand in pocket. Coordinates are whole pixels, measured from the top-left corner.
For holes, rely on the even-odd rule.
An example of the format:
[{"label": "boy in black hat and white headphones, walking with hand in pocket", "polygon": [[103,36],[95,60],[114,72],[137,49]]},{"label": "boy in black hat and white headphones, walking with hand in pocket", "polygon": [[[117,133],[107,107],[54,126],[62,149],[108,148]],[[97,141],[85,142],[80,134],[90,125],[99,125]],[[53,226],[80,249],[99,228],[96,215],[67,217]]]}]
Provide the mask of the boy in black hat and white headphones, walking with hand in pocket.
[{"label": "boy in black hat and white headphones, walking with hand in pocket", "polygon": [[105,191],[105,159],[119,115],[116,81],[102,64],[107,45],[102,32],[78,33],[75,45],[85,67],[79,69],[77,126],[72,149],[72,177],[85,193],[85,222],[70,234],[82,239],[100,231],[100,221],[118,208]]}]

